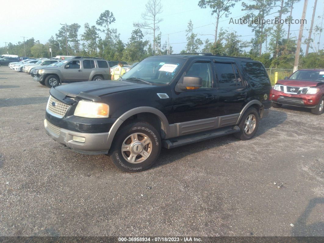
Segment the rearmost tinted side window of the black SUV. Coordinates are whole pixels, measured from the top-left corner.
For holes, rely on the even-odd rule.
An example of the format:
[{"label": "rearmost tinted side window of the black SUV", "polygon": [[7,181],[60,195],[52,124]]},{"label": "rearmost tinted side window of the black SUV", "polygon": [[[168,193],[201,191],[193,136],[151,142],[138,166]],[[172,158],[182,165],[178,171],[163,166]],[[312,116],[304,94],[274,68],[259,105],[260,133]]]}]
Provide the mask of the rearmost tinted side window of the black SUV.
[{"label": "rearmost tinted side window of the black SUV", "polygon": [[270,80],[261,63],[242,62],[242,67],[248,75],[248,82],[252,87],[267,87]]}]

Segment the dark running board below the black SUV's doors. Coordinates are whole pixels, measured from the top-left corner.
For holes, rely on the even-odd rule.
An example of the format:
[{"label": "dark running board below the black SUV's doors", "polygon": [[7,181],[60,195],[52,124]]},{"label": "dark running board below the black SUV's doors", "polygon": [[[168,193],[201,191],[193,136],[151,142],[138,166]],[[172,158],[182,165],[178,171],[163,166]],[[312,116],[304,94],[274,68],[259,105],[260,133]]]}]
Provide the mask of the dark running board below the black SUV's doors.
[{"label": "dark running board below the black SUV's doors", "polygon": [[207,139],[221,137],[227,134],[232,134],[239,132],[240,128],[238,126],[230,127],[230,128],[218,128],[215,130],[195,133],[191,135],[185,135],[178,138],[172,138],[162,141],[162,146],[167,149],[176,148],[179,146],[200,142]]}]

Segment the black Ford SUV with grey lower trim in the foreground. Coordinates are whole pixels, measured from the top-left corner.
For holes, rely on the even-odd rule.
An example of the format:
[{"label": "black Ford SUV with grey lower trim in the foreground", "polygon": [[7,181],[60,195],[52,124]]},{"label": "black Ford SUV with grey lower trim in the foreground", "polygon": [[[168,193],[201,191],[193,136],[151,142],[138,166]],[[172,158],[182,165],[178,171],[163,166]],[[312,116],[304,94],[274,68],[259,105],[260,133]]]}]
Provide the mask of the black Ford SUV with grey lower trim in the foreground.
[{"label": "black Ford SUV with grey lower trim in the foreground", "polygon": [[44,126],[65,148],[110,154],[122,171],[175,148],[233,133],[251,139],[269,113],[269,77],[258,61],[204,55],[148,57],[117,81],[50,90]]}]

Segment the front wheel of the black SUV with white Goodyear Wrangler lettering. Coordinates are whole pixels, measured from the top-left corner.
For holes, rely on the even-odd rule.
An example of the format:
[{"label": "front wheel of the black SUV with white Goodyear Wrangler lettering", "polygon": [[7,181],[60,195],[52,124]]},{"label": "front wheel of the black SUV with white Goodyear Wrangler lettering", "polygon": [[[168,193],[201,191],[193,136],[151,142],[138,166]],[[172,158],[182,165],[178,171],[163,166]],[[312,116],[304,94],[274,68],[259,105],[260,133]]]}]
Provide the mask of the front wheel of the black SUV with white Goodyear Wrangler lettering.
[{"label": "front wheel of the black SUV with white Goodyear Wrangler lettering", "polygon": [[122,127],[110,147],[110,159],[124,172],[150,168],[161,152],[161,137],[151,124],[136,121]]}]

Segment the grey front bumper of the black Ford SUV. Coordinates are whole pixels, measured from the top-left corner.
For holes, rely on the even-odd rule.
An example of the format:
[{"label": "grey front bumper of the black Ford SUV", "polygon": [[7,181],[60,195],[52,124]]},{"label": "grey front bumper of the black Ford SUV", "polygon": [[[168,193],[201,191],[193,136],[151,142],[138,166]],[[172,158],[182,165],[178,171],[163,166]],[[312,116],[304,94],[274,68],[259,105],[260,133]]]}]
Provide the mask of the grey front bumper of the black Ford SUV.
[{"label": "grey front bumper of the black Ford SUV", "polygon": [[[48,126],[49,125],[49,126]],[[65,148],[84,154],[107,154],[109,151],[108,136],[109,132],[104,133],[81,133],[64,128],[58,128],[46,119],[44,120],[46,133]],[[85,142],[73,140],[73,136],[85,138]]]}]

